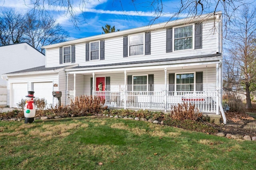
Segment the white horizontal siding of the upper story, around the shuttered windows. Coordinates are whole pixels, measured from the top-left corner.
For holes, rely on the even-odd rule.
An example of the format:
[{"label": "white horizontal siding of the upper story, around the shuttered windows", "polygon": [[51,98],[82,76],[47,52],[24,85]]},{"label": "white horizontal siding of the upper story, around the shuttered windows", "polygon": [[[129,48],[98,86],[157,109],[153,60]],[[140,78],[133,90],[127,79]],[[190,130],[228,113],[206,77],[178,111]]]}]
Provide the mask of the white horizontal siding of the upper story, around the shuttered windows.
[{"label": "white horizontal siding of the upper story, around the shuttered windows", "polygon": [[[151,55],[138,55],[131,57],[123,57],[123,36],[105,39],[105,59],[85,61],[85,44],[76,44],[76,64],[79,66],[93,66],[100,64],[113,64],[134,61],[148,61],[155,59],[167,58],[183,58],[198,55],[216,54],[218,33],[214,31],[214,22],[208,21],[202,23],[202,49],[187,49],[166,53],[166,29],[158,29],[151,31]],[[144,33],[143,33],[144,34]],[[139,34],[138,34],[139,35]],[[194,41],[193,41],[194,42]],[[72,42],[75,43],[75,42]],[[59,49],[53,48],[47,50],[46,66],[59,66]],[[129,55],[130,56],[130,55]]]}]

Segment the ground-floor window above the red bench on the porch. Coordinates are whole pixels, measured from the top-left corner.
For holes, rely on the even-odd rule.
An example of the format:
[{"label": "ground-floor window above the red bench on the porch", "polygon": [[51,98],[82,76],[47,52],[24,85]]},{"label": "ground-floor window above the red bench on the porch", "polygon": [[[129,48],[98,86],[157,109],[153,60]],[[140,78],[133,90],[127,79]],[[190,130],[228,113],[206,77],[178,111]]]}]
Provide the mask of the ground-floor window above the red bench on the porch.
[{"label": "ground-floor window above the red bench on the porch", "polygon": [[176,91],[194,91],[194,73],[176,74]]}]

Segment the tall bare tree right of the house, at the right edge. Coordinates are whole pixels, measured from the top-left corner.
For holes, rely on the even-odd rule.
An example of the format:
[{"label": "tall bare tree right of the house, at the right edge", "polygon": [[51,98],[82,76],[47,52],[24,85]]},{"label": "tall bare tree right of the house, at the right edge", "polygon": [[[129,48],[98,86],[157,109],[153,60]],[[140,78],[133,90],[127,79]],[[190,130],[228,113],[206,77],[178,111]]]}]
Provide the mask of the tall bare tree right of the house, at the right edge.
[{"label": "tall bare tree right of the house, at the right edge", "polygon": [[[256,91],[256,9],[238,10],[229,30],[228,56],[224,68],[228,90],[236,87],[246,95],[246,108],[252,108],[250,94]],[[231,84],[231,85],[230,85]]]}]

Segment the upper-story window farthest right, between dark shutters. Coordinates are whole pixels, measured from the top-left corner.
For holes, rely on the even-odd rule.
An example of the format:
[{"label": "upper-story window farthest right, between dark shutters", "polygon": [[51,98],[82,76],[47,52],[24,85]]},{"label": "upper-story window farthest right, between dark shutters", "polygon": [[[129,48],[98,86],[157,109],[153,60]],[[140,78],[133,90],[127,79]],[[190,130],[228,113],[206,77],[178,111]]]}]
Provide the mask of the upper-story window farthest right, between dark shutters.
[{"label": "upper-story window farthest right, between dark shutters", "polygon": [[174,51],[193,48],[193,25],[174,28]]}]

